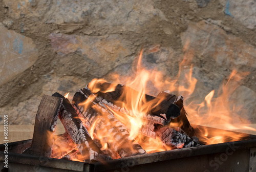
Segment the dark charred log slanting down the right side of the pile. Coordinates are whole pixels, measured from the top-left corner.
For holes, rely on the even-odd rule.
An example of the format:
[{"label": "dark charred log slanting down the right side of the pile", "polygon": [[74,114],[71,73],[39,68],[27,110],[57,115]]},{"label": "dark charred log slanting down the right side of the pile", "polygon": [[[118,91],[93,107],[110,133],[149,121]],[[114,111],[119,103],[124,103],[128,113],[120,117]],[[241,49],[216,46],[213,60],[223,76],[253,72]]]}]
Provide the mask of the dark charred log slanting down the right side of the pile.
[{"label": "dark charred log slanting down the right side of the pile", "polygon": [[172,102],[177,104],[180,107],[181,115],[172,120],[172,123],[179,125],[179,127],[191,138],[194,139],[196,136],[194,128],[190,125],[187,114],[183,106],[183,97],[182,96],[175,96],[173,94],[169,94],[168,91],[163,91],[158,94],[157,96],[160,99],[164,99],[166,101]]}]

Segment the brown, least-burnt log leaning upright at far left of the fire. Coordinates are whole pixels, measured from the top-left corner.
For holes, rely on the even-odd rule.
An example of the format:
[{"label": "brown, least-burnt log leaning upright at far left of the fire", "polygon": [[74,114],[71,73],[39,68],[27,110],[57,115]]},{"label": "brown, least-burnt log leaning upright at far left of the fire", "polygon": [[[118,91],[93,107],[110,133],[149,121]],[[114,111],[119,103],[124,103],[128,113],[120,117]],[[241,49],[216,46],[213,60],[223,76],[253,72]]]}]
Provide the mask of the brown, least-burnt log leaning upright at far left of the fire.
[{"label": "brown, least-burnt log leaning upright at far left of the fire", "polygon": [[32,144],[29,154],[51,157],[54,132],[62,99],[43,96],[35,118]]}]

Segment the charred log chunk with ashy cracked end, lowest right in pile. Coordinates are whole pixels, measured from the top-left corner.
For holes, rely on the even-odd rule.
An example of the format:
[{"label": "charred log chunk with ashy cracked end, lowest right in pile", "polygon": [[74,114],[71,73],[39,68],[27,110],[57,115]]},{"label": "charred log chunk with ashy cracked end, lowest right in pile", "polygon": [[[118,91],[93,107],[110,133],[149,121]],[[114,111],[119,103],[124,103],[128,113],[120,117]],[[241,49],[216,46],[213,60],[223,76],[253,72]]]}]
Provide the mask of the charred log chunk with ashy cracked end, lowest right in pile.
[{"label": "charred log chunk with ashy cracked end, lowest right in pile", "polygon": [[160,137],[164,146],[182,148],[202,145],[200,143],[193,141],[180,128],[177,128],[177,130],[168,127],[162,127],[157,130],[157,134]]}]

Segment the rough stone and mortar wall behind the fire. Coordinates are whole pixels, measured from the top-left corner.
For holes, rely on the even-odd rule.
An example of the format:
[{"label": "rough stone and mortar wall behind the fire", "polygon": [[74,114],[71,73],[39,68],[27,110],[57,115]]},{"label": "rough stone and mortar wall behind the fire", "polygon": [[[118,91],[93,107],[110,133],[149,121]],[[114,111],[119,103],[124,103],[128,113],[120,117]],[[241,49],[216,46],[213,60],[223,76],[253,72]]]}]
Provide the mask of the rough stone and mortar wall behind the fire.
[{"label": "rough stone and mortar wall behind the fire", "polygon": [[142,47],[147,68],[176,76],[189,42],[194,97],[218,90],[234,69],[249,71],[230,99],[255,123],[255,29],[253,0],[0,1],[0,120],[33,124],[42,95],[132,73]]}]

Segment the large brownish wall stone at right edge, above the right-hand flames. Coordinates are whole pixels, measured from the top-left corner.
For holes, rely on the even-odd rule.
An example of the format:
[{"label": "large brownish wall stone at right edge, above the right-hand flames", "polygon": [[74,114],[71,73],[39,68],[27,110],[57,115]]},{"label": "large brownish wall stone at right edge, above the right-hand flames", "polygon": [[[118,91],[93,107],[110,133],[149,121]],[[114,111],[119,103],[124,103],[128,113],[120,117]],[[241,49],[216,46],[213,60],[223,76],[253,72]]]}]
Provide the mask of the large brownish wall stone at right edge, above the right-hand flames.
[{"label": "large brownish wall stone at right edge, above the right-hand flames", "polygon": [[219,66],[230,70],[242,66],[256,68],[256,49],[253,46],[205,20],[190,23],[187,31],[181,34],[181,40],[183,44],[187,40],[193,42],[189,45],[190,49],[202,58],[214,57]]}]

